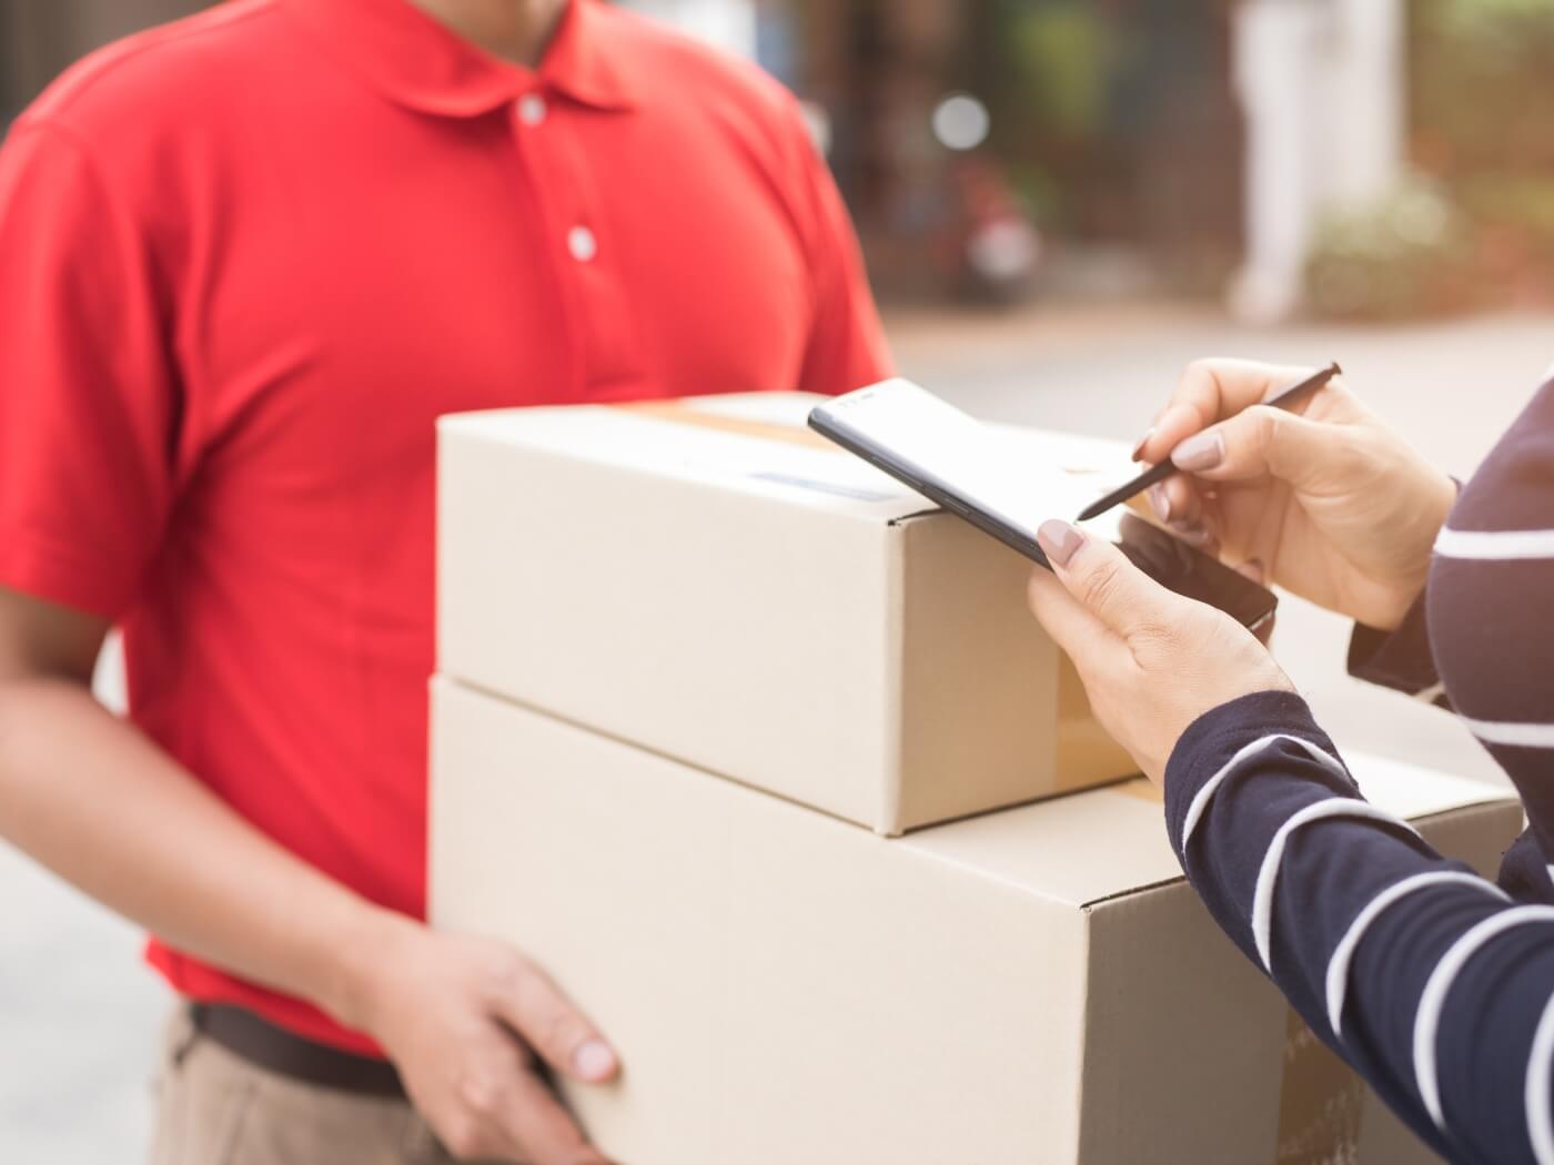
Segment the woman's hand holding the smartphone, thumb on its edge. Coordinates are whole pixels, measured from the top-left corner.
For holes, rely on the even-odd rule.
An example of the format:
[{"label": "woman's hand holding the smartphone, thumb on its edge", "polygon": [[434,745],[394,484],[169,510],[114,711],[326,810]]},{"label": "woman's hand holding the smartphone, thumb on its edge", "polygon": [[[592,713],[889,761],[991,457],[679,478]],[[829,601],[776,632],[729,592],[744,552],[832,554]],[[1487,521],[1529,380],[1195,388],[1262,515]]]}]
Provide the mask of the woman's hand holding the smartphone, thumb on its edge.
[{"label": "woman's hand holding the smartphone, thumb on its edge", "polygon": [[1030,576],[1030,609],[1074,660],[1102,727],[1155,783],[1198,716],[1239,696],[1291,691],[1253,632],[1167,590],[1110,542],[1066,522],[1038,534],[1052,570]]}]

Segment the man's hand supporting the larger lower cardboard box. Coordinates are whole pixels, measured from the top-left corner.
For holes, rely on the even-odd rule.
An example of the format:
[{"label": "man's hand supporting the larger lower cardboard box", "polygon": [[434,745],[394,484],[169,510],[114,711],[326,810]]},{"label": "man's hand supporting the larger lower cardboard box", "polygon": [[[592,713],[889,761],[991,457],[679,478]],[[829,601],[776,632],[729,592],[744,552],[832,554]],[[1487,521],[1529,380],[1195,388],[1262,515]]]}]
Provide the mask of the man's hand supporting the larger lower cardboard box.
[{"label": "man's hand supporting the larger lower cardboard box", "polygon": [[401,923],[361,975],[353,1019],[382,1044],[449,1153],[605,1165],[541,1078],[536,1056],[587,1083],[614,1078],[620,1064],[544,971],[500,943]]}]

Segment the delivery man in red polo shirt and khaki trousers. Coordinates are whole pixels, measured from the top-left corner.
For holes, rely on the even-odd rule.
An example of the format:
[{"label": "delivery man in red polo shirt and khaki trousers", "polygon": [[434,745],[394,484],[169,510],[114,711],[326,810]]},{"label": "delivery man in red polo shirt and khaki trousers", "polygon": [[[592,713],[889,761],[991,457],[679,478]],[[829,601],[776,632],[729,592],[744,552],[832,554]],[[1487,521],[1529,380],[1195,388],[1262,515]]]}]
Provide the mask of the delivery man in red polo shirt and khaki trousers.
[{"label": "delivery man in red polo shirt and khaki trousers", "polygon": [[188,1000],[159,1162],[601,1160],[606,1035],[420,921],[434,418],[886,363],[793,98],[594,0],[233,0],[22,116],[0,833]]}]

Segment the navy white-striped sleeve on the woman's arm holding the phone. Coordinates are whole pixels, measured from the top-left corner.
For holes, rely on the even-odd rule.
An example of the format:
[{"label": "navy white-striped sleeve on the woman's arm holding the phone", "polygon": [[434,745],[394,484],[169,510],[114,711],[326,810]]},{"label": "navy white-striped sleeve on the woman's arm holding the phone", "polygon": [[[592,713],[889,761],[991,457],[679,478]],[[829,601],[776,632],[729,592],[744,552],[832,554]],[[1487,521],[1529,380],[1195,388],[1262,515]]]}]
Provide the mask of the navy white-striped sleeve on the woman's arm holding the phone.
[{"label": "navy white-striped sleeve on the woman's arm holding the phone", "polygon": [[1225,932],[1427,1143],[1554,1165],[1554,907],[1369,805],[1290,693],[1200,718],[1166,812]]}]

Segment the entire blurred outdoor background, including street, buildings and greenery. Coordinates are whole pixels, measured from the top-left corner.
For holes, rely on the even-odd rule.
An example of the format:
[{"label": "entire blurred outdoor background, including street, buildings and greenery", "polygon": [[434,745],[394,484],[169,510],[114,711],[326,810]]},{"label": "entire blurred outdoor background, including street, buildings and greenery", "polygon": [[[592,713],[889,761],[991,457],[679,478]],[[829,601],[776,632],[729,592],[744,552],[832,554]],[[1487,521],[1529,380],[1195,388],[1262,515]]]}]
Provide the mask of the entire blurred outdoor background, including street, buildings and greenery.
[{"label": "entire blurred outdoor background, including street, buildings and greenery", "polygon": [[[385,0],[388,2],[388,0]],[[193,0],[0,0],[0,127]],[[634,0],[805,101],[901,370],[1128,440],[1206,354],[1324,363],[1467,475],[1554,362],[1554,0]],[[1276,649],[1344,747],[1484,780],[1447,716]],[[118,699],[103,669],[104,699]],[[138,935],[0,847],[0,1145],[141,1151]]]}]

